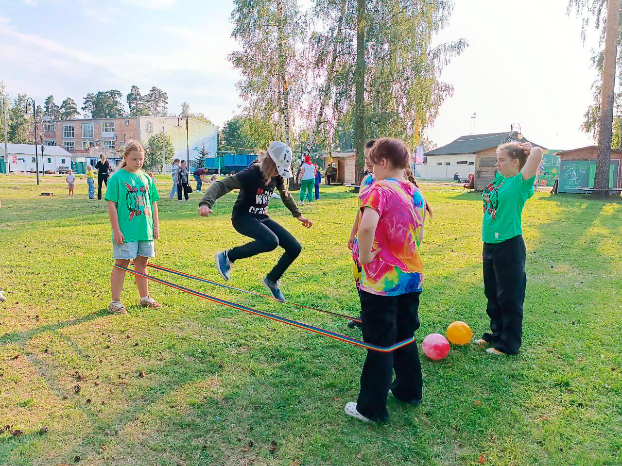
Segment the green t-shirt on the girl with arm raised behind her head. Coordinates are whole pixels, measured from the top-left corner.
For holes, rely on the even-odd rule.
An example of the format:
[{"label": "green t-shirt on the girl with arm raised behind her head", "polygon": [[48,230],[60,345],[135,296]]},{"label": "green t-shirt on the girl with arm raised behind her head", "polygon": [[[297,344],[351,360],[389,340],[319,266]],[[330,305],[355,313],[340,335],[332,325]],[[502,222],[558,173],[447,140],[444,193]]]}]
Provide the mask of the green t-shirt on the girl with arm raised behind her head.
[{"label": "green t-shirt on the girl with arm raised behind her head", "polygon": [[484,218],[481,239],[485,243],[501,243],[522,235],[521,213],[527,199],[534,195],[534,180],[522,180],[522,174],[506,178],[499,175],[481,194]]}]

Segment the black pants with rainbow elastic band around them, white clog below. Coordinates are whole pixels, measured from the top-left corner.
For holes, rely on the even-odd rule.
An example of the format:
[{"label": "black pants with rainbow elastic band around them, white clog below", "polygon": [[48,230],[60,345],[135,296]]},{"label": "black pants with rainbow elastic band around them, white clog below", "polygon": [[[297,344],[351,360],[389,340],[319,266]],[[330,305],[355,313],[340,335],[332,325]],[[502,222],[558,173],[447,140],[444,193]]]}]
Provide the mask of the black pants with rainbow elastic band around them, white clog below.
[{"label": "black pants with rainbow elastic band around them, white clog below", "polygon": [[[363,340],[380,346],[391,346],[411,338],[419,328],[419,295],[380,296],[359,291]],[[395,371],[395,380],[391,377]],[[361,373],[361,391],[356,410],[372,421],[386,421],[389,388],[397,400],[412,403],[421,400],[423,379],[417,343],[391,353],[367,350]]]}]

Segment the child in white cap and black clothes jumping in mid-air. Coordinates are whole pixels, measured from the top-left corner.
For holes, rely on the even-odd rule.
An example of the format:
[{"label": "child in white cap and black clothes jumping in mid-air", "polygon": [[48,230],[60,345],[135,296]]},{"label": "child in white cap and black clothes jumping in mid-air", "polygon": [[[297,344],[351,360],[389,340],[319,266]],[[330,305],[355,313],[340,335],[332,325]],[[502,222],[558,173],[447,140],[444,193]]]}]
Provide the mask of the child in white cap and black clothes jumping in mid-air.
[{"label": "child in white cap and black clothes jumping in mid-air", "polygon": [[198,214],[203,217],[210,216],[216,199],[231,190],[239,190],[238,200],[231,212],[231,224],[239,234],[248,236],[254,241],[216,253],[216,268],[225,280],[229,280],[231,265],[236,260],[272,251],[281,246],[285,249],[285,253],[262,283],[274,299],[283,303],[285,296],[281,291],[281,276],[298,257],[302,246],[290,232],[267,214],[274,188],[279,190],[283,203],[295,219],[302,222],[306,228],[313,225],[309,219],[302,216],[302,212],[285,187],[285,180],[292,176],[291,163],[291,149],[282,142],[271,142],[267,153],[261,153],[257,162],[251,163],[248,168],[236,175],[214,181],[198,204]]}]

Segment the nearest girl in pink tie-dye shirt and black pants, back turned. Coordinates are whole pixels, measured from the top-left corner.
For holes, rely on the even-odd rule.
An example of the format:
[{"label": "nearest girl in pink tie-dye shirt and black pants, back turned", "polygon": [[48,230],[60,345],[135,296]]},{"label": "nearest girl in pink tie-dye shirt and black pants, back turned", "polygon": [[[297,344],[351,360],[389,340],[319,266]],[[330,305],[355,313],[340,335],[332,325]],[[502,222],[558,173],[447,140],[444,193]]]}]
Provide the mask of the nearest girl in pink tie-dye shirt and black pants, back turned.
[{"label": "nearest girl in pink tie-dye shirt and black pants, back turned", "polygon": [[[363,340],[391,346],[412,338],[419,328],[424,281],[419,245],[425,199],[419,188],[404,178],[410,157],[403,141],[377,140],[369,160],[376,181],[360,195],[358,227]],[[393,370],[395,380],[391,383]],[[422,374],[415,342],[390,353],[368,350],[358,400],[346,404],[346,414],[365,422],[386,421],[389,391],[402,403],[421,402]]]}]

